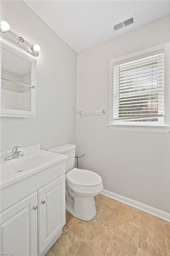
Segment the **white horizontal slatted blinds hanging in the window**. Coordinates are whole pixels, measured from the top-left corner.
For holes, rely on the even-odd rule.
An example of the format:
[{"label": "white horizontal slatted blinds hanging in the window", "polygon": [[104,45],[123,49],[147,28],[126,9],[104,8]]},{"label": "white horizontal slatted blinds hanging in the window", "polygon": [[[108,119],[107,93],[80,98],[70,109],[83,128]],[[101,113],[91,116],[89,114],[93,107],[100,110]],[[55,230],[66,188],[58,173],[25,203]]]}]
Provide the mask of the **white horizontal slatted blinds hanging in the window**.
[{"label": "white horizontal slatted blinds hanging in the window", "polygon": [[114,121],[158,121],[163,116],[164,51],[114,64]]}]

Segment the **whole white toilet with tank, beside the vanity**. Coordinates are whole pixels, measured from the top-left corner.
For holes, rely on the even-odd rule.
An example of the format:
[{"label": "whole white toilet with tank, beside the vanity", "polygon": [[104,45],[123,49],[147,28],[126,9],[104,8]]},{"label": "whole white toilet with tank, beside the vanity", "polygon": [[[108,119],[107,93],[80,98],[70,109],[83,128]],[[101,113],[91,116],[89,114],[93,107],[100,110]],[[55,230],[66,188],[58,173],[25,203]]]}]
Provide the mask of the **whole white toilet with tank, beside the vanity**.
[{"label": "whole white toilet with tank, beside the vanity", "polygon": [[65,168],[66,210],[81,220],[91,220],[96,215],[94,196],[103,189],[100,175],[74,167],[75,145],[66,144],[50,148],[48,151],[67,155]]}]

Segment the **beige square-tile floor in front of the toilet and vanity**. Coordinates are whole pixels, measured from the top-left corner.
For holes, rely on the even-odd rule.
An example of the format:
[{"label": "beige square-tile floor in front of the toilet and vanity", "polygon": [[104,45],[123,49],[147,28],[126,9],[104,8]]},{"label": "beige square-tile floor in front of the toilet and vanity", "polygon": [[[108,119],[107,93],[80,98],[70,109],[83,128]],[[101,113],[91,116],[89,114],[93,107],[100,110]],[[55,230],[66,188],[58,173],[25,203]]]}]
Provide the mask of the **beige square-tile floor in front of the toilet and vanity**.
[{"label": "beige square-tile floor in front of the toilet and vanity", "polygon": [[46,256],[170,256],[170,223],[109,197],[95,197],[97,215],[66,212],[63,233]]}]

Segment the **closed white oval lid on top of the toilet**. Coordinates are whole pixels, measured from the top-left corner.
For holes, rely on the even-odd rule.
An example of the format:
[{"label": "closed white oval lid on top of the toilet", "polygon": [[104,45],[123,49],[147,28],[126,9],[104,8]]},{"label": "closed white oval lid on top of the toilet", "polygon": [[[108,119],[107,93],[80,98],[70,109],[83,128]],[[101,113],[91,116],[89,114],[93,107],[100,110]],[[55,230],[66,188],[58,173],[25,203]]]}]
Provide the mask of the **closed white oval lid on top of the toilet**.
[{"label": "closed white oval lid on top of the toilet", "polygon": [[74,168],[66,174],[67,179],[83,187],[96,187],[102,183],[102,178],[95,172]]}]

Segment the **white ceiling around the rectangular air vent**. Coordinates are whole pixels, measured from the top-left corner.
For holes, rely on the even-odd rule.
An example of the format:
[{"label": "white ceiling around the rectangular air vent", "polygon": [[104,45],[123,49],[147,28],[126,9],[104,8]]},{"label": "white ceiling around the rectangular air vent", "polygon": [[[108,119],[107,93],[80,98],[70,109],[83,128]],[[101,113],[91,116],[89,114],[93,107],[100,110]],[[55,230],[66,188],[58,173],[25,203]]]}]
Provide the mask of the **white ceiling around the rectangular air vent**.
[{"label": "white ceiling around the rectangular air vent", "polygon": [[[79,52],[170,13],[170,1],[27,1],[69,46]],[[118,31],[115,23],[135,15],[136,22]]]}]

